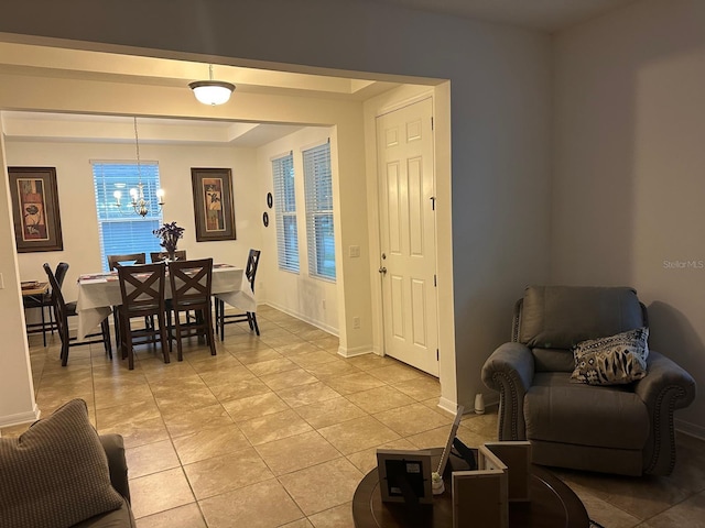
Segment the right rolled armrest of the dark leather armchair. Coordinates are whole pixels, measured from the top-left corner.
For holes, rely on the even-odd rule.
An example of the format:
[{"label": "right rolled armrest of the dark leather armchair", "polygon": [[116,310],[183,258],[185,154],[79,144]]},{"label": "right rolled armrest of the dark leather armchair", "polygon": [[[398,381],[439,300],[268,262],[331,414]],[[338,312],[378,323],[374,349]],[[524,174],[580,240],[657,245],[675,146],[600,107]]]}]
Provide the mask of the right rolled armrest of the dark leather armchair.
[{"label": "right rolled armrest of the dark leather armchair", "polygon": [[634,393],[647,406],[651,432],[643,450],[644,473],[669,475],[675,465],[673,411],[695,399],[695,380],[674,361],[649,351],[648,375],[634,383]]}]

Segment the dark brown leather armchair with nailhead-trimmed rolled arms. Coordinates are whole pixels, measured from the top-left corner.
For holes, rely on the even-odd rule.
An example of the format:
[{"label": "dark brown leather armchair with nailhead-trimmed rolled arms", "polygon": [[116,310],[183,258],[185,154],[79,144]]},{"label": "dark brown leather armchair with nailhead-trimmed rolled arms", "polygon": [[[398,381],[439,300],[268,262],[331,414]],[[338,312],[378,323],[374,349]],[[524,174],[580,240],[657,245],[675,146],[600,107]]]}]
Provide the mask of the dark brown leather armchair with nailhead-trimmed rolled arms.
[{"label": "dark brown leather armchair with nailhead-trimmed rolled arms", "polygon": [[675,464],[673,411],[695,399],[693,377],[648,351],[646,377],[620,385],[575,383],[571,348],[648,328],[631,288],[530,286],[514,309],[512,342],[482,367],[499,391],[499,440],[529,440],[542,465],[668,475]]}]

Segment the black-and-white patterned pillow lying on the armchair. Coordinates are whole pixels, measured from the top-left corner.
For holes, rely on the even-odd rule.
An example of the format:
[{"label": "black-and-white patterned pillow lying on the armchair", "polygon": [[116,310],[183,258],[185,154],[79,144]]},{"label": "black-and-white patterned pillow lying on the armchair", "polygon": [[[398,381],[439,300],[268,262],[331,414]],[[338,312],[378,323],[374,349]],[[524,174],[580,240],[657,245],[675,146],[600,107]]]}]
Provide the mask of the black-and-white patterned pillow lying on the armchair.
[{"label": "black-and-white patterned pillow lying on the armchair", "polygon": [[572,380],[588,385],[619,385],[647,375],[649,329],[636,328],[608,338],[582,341],[573,346]]}]

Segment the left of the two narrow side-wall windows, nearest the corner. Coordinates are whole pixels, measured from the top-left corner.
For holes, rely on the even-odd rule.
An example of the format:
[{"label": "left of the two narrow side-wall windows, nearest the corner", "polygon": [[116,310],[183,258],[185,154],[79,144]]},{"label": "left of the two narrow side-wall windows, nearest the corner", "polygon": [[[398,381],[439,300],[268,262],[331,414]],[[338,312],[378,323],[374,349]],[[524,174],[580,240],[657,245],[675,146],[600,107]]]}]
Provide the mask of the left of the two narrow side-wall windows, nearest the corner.
[{"label": "left of the two narrow side-wall windows, nearest the corner", "polygon": [[272,160],[274,202],[276,205],[276,252],[279,268],[299,273],[299,230],[293,153]]}]

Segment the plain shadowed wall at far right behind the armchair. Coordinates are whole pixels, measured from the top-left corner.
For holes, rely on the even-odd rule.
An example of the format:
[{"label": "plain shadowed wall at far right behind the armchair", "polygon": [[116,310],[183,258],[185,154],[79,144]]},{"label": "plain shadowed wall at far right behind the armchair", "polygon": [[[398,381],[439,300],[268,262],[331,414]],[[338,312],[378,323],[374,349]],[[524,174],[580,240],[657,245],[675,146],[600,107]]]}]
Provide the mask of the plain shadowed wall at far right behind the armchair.
[{"label": "plain shadowed wall at far right behind the armchair", "polygon": [[[647,0],[555,40],[554,283],[628,285],[650,346],[705,383],[705,2]],[[705,400],[676,413],[705,437]]]}]

